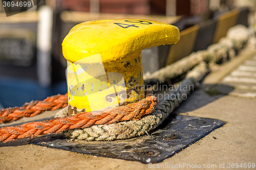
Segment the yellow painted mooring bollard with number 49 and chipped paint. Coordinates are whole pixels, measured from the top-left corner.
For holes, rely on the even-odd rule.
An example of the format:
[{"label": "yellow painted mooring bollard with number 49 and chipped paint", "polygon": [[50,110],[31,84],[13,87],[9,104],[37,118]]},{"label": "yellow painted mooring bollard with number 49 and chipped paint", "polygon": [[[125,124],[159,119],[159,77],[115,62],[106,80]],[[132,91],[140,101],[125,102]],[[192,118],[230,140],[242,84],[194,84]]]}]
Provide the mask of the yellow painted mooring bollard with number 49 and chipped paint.
[{"label": "yellow painted mooring bollard with number 49 and chipped paint", "polygon": [[143,99],[141,50],[179,38],[177,27],[145,19],[95,20],[73,27],[62,42],[69,114]]}]

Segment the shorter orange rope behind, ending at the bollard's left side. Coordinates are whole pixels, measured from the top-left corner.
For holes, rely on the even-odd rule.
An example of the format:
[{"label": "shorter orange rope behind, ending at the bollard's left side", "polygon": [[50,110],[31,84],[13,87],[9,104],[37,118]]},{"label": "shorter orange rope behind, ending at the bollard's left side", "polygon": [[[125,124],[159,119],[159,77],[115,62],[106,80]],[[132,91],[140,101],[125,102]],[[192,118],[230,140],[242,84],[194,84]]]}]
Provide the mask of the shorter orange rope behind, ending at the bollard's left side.
[{"label": "shorter orange rope behind, ending at the bollard's left side", "polygon": [[10,123],[23,117],[32,117],[47,110],[56,110],[68,105],[68,94],[53,95],[44,101],[32,101],[22,107],[0,110],[0,124]]}]

